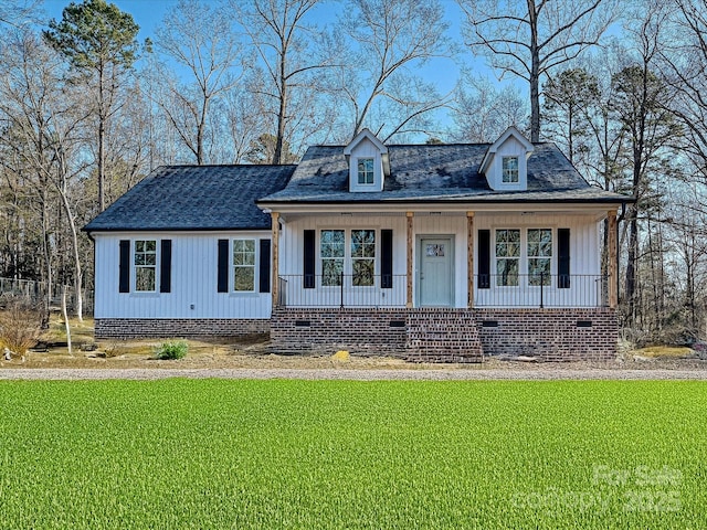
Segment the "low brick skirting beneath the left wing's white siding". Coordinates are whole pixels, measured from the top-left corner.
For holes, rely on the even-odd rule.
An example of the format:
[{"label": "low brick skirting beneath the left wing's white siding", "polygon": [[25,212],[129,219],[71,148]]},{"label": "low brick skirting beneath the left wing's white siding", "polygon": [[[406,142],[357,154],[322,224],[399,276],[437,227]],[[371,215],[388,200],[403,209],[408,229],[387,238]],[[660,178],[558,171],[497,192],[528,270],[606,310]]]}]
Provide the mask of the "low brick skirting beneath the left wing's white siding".
[{"label": "low brick skirting beneath the left wing's white siding", "polygon": [[243,337],[270,330],[270,320],[253,318],[96,318],[94,325],[97,340]]}]

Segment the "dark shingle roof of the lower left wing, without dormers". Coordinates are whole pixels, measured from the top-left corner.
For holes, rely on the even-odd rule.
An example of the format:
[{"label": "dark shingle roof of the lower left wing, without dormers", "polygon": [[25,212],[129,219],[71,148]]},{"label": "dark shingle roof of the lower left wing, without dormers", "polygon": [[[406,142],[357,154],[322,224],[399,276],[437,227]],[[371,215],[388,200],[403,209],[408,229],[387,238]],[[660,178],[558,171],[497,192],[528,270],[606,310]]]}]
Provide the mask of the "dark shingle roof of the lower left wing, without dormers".
[{"label": "dark shingle roof of the lower left wing, without dormers", "polygon": [[255,201],[284,188],[295,166],[162,166],[83,230],[268,229]]}]

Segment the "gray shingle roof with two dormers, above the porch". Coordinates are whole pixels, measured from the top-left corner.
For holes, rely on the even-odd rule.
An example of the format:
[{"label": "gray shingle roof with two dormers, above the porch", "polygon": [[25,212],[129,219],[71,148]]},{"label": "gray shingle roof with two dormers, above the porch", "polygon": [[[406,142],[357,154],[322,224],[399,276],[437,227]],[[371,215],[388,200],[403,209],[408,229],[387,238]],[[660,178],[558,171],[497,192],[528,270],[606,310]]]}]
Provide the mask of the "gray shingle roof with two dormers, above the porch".
[{"label": "gray shingle roof with two dormers, above the porch", "polygon": [[289,183],[261,202],[625,202],[590,186],[555,144],[536,144],[527,191],[494,191],[478,169],[489,144],[388,146],[382,192],[350,193],[342,146],[310,147]]}]

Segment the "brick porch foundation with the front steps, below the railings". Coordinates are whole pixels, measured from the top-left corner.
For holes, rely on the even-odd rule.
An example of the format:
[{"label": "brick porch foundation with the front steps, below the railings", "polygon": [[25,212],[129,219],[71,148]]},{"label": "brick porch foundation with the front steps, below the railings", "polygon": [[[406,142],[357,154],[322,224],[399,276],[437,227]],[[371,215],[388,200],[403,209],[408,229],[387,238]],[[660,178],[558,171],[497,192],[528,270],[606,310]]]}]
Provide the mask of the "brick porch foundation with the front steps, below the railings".
[{"label": "brick porch foundation with the front steps, below the railings", "polygon": [[271,319],[273,351],[344,349],[425,362],[474,362],[483,356],[610,360],[618,338],[616,312],[609,308],[276,308]]}]

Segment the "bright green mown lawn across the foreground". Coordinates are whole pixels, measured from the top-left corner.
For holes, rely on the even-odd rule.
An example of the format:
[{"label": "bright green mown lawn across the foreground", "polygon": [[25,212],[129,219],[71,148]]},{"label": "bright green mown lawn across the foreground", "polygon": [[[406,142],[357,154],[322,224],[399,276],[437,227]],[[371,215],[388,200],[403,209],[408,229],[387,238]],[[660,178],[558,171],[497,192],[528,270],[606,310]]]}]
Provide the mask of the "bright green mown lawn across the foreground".
[{"label": "bright green mown lawn across the foreground", "polygon": [[0,528],[701,528],[700,382],[0,383]]}]

